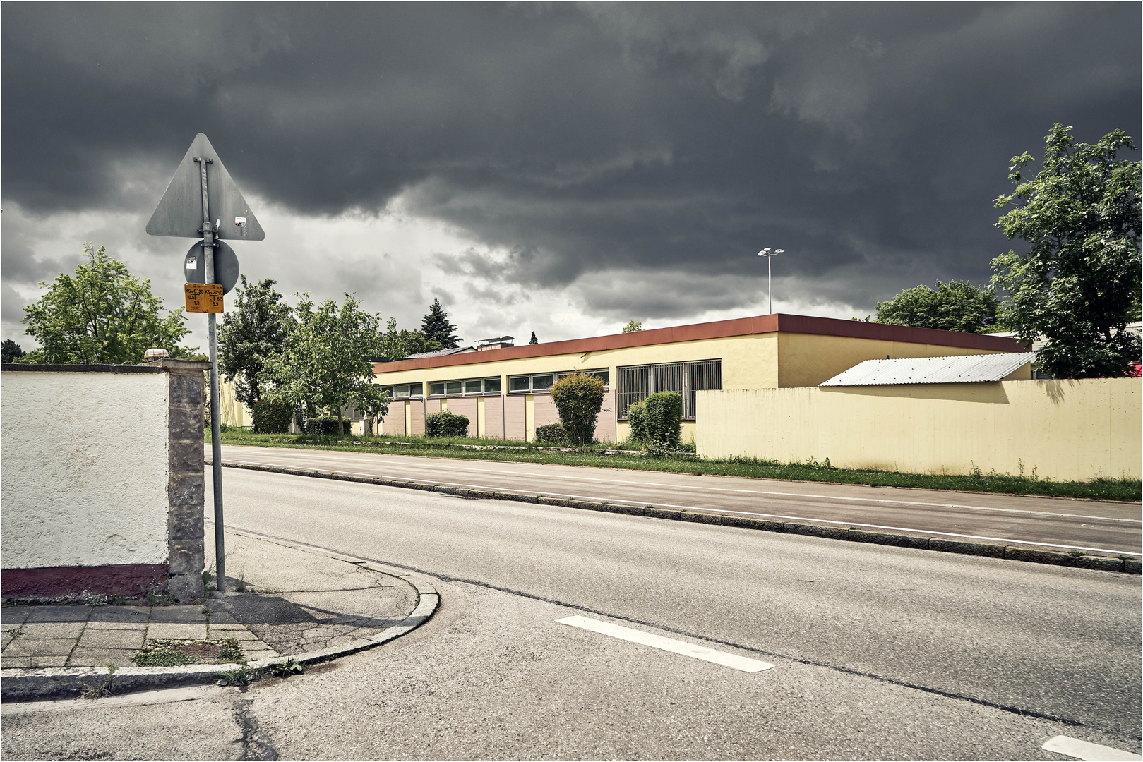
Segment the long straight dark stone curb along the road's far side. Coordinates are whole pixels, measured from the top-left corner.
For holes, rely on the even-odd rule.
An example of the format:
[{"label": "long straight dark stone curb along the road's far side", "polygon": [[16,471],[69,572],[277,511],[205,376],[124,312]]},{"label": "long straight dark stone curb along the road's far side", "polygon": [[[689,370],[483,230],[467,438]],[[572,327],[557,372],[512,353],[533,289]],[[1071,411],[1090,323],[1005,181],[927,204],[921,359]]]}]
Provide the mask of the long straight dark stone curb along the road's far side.
[{"label": "long straight dark stone curb along the road's far side", "polygon": [[[207,460],[207,464],[210,462]],[[701,513],[696,511],[680,511],[674,508],[656,508],[653,506],[639,506],[631,504],[597,503],[593,500],[580,500],[576,498],[558,498],[544,495],[533,495],[530,492],[489,491],[466,487],[442,487],[430,482],[413,482],[383,476],[352,476],[350,474],[337,474],[329,471],[307,471],[304,468],[288,468],[282,466],[264,466],[250,463],[223,463],[226,468],[241,468],[246,471],[266,471],[270,473],[288,474],[291,476],[317,476],[320,479],[335,479],[339,481],[365,481],[384,487],[405,487],[411,489],[427,489],[446,495],[458,495],[466,498],[517,500],[520,503],[537,503],[539,505],[554,505],[582,511],[600,511],[605,513],[623,513],[634,516],[647,516],[652,519],[666,519],[670,521],[690,521],[706,524],[721,524],[724,527],[736,527],[740,529],[756,529],[761,531],[783,532],[786,535],[808,535],[812,537],[825,537],[829,539],[840,539],[853,543],[866,543],[871,545],[890,545],[897,547],[909,547],[914,550],[937,551],[941,553],[959,553],[962,555],[980,555],[1007,561],[1024,561],[1029,563],[1044,563],[1057,567],[1073,567],[1079,569],[1096,569],[1100,571],[1116,571],[1128,575],[1141,573],[1141,562],[1143,559],[1121,559],[1105,555],[1078,555],[1073,556],[1063,551],[1048,551],[1029,548],[1021,545],[1001,545],[999,543],[974,543],[972,540],[946,539],[944,537],[926,537],[924,534],[870,531],[865,529],[832,526],[830,523],[802,523],[800,521],[777,521],[774,519],[736,516],[720,513]]]}]

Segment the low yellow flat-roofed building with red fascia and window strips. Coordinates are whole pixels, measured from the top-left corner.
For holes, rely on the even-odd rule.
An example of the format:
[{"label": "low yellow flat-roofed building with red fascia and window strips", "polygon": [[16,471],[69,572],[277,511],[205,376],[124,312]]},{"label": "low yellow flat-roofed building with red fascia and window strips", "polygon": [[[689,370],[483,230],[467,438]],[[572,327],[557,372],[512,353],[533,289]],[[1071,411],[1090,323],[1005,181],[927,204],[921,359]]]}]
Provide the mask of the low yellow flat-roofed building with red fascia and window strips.
[{"label": "low yellow flat-roofed building with red fascia and window strips", "polygon": [[[559,420],[552,384],[581,371],[599,377],[607,390],[599,441],[626,439],[623,411],[661,391],[682,394],[688,441],[698,390],[816,386],[864,360],[1022,350],[1009,337],[769,314],[409,358],[374,364],[376,383],[393,399],[377,433],[421,435],[425,416],[447,409],[469,417],[470,436],[531,441],[537,426]],[[1031,366],[1015,377],[1031,378]]]}]

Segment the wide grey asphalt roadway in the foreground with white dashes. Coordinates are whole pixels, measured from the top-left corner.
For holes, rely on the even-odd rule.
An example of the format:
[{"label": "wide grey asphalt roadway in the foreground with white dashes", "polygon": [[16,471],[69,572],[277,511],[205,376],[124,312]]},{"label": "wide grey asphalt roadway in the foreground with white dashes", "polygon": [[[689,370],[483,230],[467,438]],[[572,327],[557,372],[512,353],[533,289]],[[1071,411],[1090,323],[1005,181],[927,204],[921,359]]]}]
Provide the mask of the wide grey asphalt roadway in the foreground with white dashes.
[{"label": "wide grey asphalt roadway in the foreground with white dashes", "polygon": [[262,472],[224,484],[227,526],[422,571],[439,613],[247,692],[6,706],[6,757],[1068,759],[1040,748],[1060,735],[1140,752],[1136,576]]}]

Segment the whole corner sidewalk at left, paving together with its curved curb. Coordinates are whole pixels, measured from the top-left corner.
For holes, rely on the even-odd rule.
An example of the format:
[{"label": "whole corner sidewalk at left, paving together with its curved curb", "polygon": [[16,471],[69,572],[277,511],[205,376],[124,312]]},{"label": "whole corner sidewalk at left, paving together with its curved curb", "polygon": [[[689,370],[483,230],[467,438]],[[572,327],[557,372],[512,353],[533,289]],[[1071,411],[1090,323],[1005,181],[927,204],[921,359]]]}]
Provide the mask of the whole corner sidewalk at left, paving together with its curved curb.
[{"label": "whole corner sidewalk at left, paving together with its curved curb", "polygon": [[[335,658],[409,632],[439,601],[405,570],[251,532],[226,532],[226,569],[231,592],[211,591],[197,605],[5,605],[3,700],[74,698],[107,682],[117,692],[150,690],[211,682],[241,665]],[[157,645],[193,663],[136,666]],[[110,666],[119,667],[113,676]]]}]

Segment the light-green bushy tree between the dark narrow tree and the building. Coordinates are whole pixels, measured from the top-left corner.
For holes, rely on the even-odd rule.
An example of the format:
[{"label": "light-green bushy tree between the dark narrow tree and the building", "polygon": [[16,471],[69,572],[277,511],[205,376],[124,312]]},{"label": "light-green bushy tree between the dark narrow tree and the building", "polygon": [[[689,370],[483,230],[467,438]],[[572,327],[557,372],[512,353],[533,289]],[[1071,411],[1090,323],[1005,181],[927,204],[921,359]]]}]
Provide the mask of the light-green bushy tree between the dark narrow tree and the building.
[{"label": "light-green bushy tree between the dark narrow tree and the building", "polygon": [[258,374],[259,382],[272,385],[267,399],[286,402],[307,418],[323,411],[336,415],[343,432],[343,408],[384,417],[389,396],[373,383],[369,362],[381,354],[377,316],[362,312],[349,294],[341,307],[327,299],[317,308],[309,294],[298,296],[297,326]]}]

